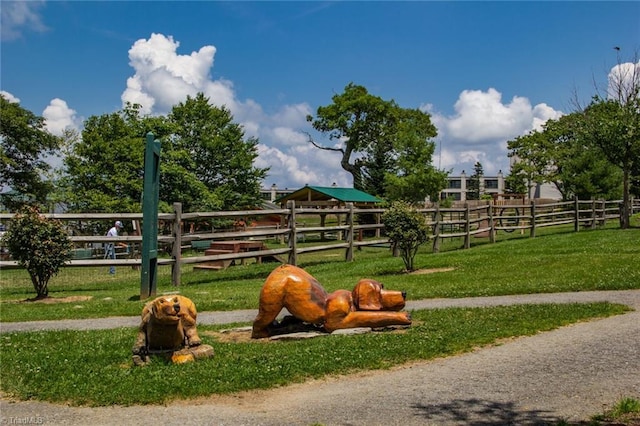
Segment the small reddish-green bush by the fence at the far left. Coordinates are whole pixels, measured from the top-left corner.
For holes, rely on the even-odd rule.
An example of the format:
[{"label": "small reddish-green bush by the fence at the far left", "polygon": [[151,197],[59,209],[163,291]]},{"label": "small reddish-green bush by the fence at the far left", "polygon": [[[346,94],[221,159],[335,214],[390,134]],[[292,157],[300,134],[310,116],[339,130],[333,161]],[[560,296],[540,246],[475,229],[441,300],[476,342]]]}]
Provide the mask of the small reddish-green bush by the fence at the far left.
[{"label": "small reddish-green bush by the fence at the far left", "polygon": [[36,299],[49,295],[49,279],[71,259],[72,244],[61,223],[40,215],[32,206],[23,207],[3,236],[11,256],[29,272]]}]

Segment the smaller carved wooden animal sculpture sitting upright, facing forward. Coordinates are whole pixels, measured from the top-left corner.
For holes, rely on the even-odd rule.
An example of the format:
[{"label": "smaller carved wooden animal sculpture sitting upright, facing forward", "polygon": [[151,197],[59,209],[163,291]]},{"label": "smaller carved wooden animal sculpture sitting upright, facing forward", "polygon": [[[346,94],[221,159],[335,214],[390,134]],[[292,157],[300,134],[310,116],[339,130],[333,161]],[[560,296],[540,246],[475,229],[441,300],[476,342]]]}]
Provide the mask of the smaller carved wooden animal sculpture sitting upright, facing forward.
[{"label": "smaller carved wooden animal sculpture sitting upright, facing forward", "polygon": [[153,351],[179,351],[200,346],[196,306],[184,296],[161,296],[142,309],[142,322],[133,346],[136,356],[148,360]]}]

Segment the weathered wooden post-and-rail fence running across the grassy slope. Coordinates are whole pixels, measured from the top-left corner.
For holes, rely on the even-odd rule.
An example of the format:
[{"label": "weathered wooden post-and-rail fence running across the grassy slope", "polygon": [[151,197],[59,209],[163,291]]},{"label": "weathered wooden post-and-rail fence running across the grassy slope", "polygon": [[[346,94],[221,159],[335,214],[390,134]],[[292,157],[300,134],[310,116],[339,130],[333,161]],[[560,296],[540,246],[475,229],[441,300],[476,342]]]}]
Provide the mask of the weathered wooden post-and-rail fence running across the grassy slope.
[{"label": "weathered wooden post-and-rail fence running across the grassy slope", "polygon": [[[379,246],[389,243],[384,237],[384,225],[381,223],[381,215],[384,209],[354,208],[347,204],[342,208],[319,209],[308,207],[296,207],[290,201],[287,208],[279,210],[244,210],[227,212],[196,212],[182,213],[180,203],[173,205],[173,213],[158,214],[159,224],[162,229],[170,232],[159,232],[158,244],[167,248],[167,256],[158,258],[158,265],[170,265],[172,267],[172,282],[180,284],[181,265],[207,264],[216,261],[235,261],[254,258],[277,258],[287,263],[297,264],[298,255],[303,253],[318,252],[323,250],[344,249],[345,260],[352,261],[354,250],[362,246]],[[532,200],[529,203],[497,204],[488,202],[471,206],[469,203],[463,207],[442,208],[436,204],[433,208],[424,208],[420,211],[425,215],[425,220],[430,226],[433,251],[437,252],[440,243],[446,238],[463,238],[464,248],[471,246],[473,237],[489,238],[496,241],[499,231],[520,232],[528,231],[530,237],[535,237],[538,229],[547,226],[559,226],[573,224],[573,230],[595,229],[604,226],[607,221],[619,220],[621,215],[620,201],[604,200],[578,200],[561,201],[553,203],[540,203]],[[640,212],[640,200],[632,201],[632,214]],[[335,215],[336,224],[330,226],[306,226],[303,220],[309,216]],[[375,223],[357,223],[358,215],[374,217]],[[61,213],[45,214],[44,216],[66,222],[71,230],[74,223],[103,222],[111,226],[112,221],[133,221],[138,224],[142,220],[141,213]],[[239,227],[237,229],[211,229],[204,232],[190,232],[190,223],[206,220],[234,221],[245,218],[261,217],[280,218],[280,222],[270,226]],[[0,214],[0,221],[9,223],[13,214]],[[168,226],[167,226],[168,224]],[[76,226],[77,227],[77,226]],[[82,228],[82,227],[80,227]],[[189,231],[186,231],[189,229]],[[119,253],[116,259],[105,259],[101,255],[100,247],[110,242],[125,242],[129,246],[139,246],[142,242],[140,235],[123,235],[107,237],[104,235],[74,235],[70,232],[69,239],[78,247],[76,256],[65,266],[137,266],[141,265],[141,259],[136,256],[128,256]],[[318,238],[314,244],[299,244],[306,241],[307,235],[319,235],[329,238]],[[206,249],[215,241],[259,241],[274,240],[285,247],[268,249],[266,246],[260,250],[254,249],[242,252],[228,252],[205,255],[186,255],[187,250]],[[97,248],[96,248],[97,246]],[[90,247],[90,248],[87,248]],[[135,254],[135,250],[131,253]],[[206,253],[206,252],[205,252]],[[0,260],[0,269],[15,268],[17,262],[6,259]]]}]

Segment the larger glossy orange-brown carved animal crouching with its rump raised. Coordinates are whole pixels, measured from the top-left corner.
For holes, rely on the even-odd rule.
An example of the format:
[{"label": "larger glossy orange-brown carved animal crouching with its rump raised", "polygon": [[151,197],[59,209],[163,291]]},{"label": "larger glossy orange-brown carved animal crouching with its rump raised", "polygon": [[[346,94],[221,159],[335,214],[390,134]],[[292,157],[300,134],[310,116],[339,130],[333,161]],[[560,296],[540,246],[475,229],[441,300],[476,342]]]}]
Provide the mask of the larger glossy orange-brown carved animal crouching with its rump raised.
[{"label": "larger glossy orange-brown carved animal crouching with its rump raised", "polygon": [[327,294],[309,273],[293,265],[282,265],[267,277],[260,291],[258,316],[253,321],[254,339],[268,337],[269,326],[282,308],[303,322],[321,326],[327,332],[354,327],[410,325],[404,308],[406,294],[384,290],[383,285],[362,279],[353,291]]}]

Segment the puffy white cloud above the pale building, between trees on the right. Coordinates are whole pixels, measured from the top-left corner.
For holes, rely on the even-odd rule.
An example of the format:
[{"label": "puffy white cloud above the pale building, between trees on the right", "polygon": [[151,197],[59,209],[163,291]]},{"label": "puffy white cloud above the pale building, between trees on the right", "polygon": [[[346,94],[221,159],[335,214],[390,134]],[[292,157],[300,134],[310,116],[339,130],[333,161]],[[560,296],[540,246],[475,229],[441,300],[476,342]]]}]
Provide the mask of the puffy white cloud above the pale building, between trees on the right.
[{"label": "puffy white cloud above the pale building, between trees on the right", "polygon": [[473,165],[480,162],[488,175],[508,173],[507,141],[562,115],[546,104],[531,106],[520,96],[504,103],[502,94],[494,88],[463,91],[451,116],[433,112],[429,104],[422,109],[432,113],[438,128],[434,164],[460,173],[473,170]]}]

